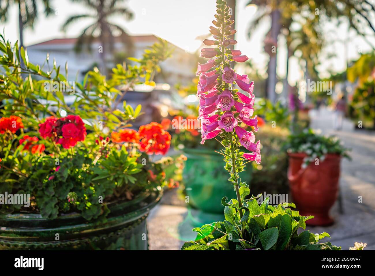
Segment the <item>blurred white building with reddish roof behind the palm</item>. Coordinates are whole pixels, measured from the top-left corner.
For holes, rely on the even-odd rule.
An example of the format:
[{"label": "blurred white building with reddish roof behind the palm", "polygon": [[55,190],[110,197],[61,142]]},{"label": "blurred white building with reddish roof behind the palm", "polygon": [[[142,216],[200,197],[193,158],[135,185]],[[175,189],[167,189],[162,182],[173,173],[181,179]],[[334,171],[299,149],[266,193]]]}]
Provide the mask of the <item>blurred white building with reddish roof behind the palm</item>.
[{"label": "blurred white building with reddish roof behind the palm", "polygon": [[[106,60],[115,60],[120,62],[126,60],[126,57],[140,58],[147,46],[151,46],[157,41],[155,35],[136,35],[129,36],[132,47],[126,47],[123,40],[119,37],[114,39],[114,57],[106,56]],[[75,45],[78,38],[56,38],[48,41],[40,42],[27,47],[28,57],[31,63],[43,65],[49,54],[49,64],[52,66],[53,59],[56,65],[61,66],[61,72],[65,72],[65,62],[68,62],[68,80],[82,82],[87,71],[94,66],[99,65],[101,56],[99,53],[100,42],[94,40],[87,46],[82,47],[82,51],[77,53]],[[196,57],[185,50],[169,43],[174,49],[172,57],[160,64],[162,71],[156,75],[156,83],[168,83],[174,87],[177,83],[188,84],[194,77],[194,69],[196,67]],[[44,69],[48,70],[45,64]],[[114,66],[113,62],[108,62],[108,68]]]}]

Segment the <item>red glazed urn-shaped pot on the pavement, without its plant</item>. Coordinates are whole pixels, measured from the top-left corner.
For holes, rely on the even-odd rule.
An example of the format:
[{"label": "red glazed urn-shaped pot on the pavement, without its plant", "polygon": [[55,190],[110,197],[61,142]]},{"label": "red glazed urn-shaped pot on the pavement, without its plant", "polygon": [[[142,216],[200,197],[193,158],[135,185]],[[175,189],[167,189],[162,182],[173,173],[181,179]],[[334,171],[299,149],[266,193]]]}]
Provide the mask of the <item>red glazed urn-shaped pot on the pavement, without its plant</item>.
[{"label": "red glazed urn-shaped pot on the pavement, without its plant", "polygon": [[305,153],[289,154],[288,179],[297,210],[303,216],[314,216],[309,225],[330,225],[329,210],[339,192],[340,160],[338,154],[327,154],[319,165],[315,162],[302,169]]}]

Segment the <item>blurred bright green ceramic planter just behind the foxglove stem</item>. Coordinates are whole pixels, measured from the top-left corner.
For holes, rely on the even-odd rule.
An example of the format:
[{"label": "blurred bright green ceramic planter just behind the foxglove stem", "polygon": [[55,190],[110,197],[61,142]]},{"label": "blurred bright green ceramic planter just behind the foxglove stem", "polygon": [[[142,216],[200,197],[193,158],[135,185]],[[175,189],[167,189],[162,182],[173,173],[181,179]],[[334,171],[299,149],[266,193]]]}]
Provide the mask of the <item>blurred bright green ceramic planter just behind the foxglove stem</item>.
[{"label": "blurred bright green ceramic planter just behind the foxglove stem", "polygon": [[[208,150],[184,149],[187,157],[184,168],[184,185],[189,204],[204,212],[223,214],[221,199],[236,198],[233,185],[228,182],[229,174],[224,169],[222,155]],[[249,183],[251,166],[241,173],[243,181]]]}]

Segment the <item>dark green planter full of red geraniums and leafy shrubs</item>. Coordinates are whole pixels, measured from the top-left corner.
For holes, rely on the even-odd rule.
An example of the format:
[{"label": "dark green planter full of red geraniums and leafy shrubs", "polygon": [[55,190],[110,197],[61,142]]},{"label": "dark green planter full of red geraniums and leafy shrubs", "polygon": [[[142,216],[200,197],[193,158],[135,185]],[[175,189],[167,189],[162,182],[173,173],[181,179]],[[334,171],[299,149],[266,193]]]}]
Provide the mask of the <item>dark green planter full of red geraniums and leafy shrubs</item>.
[{"label": "dark green planter full of red geraniums and leafy shrubs", "polygon": [[1,39],[0,249],[147,249],[145,218],[172,164],[148,156],[165,154],[171,136],[156,122],[131,129],[141,106],[122,98],[152,85],[166,42],[109,78],[95,68],[78,83]]}]

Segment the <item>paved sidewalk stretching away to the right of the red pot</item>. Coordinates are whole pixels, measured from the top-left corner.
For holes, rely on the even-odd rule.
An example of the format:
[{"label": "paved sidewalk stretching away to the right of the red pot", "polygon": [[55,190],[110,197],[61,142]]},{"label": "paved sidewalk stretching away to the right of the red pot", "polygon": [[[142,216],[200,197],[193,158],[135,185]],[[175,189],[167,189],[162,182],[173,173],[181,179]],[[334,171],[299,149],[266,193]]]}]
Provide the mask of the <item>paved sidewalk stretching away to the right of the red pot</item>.
[{"label": "paved sidewalk stretching away to the right of the red pot", "polygon": [[[339,213],[338,202],[331,215],[335,224],[329,227],[309,227],[311,232],[328,232],[332,244],[348,250],[354,242],[367,243],[366,249],[375,250],[375,132],[354,130],[353,122],[345,119],[343,129],[333,129],[334,115],[327,109],[312,110],[311,128],[323,134],[338,136],[344,146],[351,148],[352,161],[342,160],[340,189],[344,213]],[[362,203],[359,203],[359,197]]]}]

